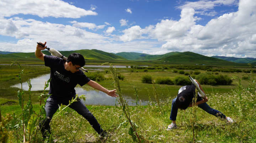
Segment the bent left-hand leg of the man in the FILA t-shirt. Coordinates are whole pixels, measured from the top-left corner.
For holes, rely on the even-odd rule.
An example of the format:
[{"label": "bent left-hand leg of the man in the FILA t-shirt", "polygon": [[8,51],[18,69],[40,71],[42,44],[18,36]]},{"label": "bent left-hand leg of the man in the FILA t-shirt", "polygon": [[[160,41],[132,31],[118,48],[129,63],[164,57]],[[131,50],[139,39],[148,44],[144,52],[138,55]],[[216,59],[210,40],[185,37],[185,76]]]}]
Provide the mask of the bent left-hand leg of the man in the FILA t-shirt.
[{"label": "bent left-hand leg of the man in the FILA t-shirt", "polygon": [[42,120],[39,124],[39,127],[41,129],[43,136],[47,135],[47,131],[50,134],[50,125],[49,124],[50,124],[50,121],[52,120],[54,113],[59,108],[58,104],[59,104],[59,102],[57,100],[48,97],[48,99],[46,101],[46,106],[44,108],[46,110],[46,118],[44,120]]}]

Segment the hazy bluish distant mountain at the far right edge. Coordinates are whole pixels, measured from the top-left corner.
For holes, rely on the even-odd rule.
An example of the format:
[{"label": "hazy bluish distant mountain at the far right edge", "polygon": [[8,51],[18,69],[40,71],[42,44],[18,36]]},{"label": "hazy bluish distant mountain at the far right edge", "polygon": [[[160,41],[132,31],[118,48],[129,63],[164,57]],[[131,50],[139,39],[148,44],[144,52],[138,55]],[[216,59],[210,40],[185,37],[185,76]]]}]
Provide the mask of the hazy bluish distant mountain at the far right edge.
[{"label": "hazy bluish distant mountain at the far right edge", "polygon": [[212,56],[213,58],[224,59],[225,61],[235,62],[235,63],[256,63],[256,58],[235,58],[235,57],[224,57],[224,56]]}]

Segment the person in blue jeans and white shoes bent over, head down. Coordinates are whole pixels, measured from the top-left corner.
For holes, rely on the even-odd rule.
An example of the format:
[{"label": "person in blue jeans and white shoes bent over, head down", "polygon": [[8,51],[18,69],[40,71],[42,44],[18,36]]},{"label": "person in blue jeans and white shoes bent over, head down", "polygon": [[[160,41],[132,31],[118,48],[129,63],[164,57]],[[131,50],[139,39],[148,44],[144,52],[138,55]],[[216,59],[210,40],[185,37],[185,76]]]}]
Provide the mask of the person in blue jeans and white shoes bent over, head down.
[{"label": "person in blue jeans and white shoes bent over, head down", "polygon": [[[200,83],[195,80],[199,86],[199,88],[204,92],[203,88],[201,87]],[[173,128],[177,128],[176,125],[176,117],[178,113],[178,108],[181,110],[186,110],[188,107],[192,107],[192,100],[194,98],[194,95],[197,95],[197,106],[202,108],[204,111],[206,111],[209,114],[212,114],[216,117],[220,117],[222,119],[226,119],[227,122],[233,123],[234,121],[226,117],[224,114],[222,114],[220,111],[215,110],[211,108],[206,102],[208,101],[208,98],[205,97],[202,99],[202,97],[198,96],[198,93],[196,92],[196,86],[192,83],[192,85],[183,86],[178,91],[178,95],[176,98],[172,100],[172,108],[171,108],[171,115],[170,120],[172,120],[172,123],[168,125],[167,130],[171,130]]]}]

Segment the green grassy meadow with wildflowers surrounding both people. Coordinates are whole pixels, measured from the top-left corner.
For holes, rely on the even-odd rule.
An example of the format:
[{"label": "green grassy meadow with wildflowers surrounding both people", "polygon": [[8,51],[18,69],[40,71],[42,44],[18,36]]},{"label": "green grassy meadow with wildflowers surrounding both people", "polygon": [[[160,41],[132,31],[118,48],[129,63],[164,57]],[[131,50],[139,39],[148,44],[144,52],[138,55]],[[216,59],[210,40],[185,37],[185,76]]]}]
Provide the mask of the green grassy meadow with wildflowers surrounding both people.
[{"label": "green grassy meadow with wildflowers surrounding both people", "polygon": [[[99,106],[99,105],[86,105],[86,107],[94,114],[98,122],[104,130],[112,134],[112,137],[107,139],[99,139],[97,133],[90,127],[90,124],[79,114],[70,108],[66,108],[58,116],[55,113],[55,123],[53,142],[63,143],[129,143],[129,142],[145,142],[145,143],[172,143],[172,142],[256,142],[256,102],[255,102],[255,83],[253,77],[249,80],[249,76],[253,76],[255,70],[251,69],[247,64],[238,64],[220,60],[211,61],[206,58],[200,58],[195,61],[186,61],[191,58],[193,53],[185,53],[179,55],[177,58],[175,53],[167,56],[157,57],[158,59],[137,59],[127,60],[121,56],[114,57],[107,55],[107,53],[92,50],[92,55],[87,55],[87,65],[100,65],[106,61],[113,65],[148,65],[154,66],[155,69],[150,67],[144,69],[136,68],[116,68],[116,72],[123,77],[119,79],[119,88],[121,94],[125,97],[131,97],[134,100],[135,106],[123,107],[121,104],[117,106]],[[74,52],[74,51],[70,51]],[[81,52],[81,51],[78,51]],[[86,51],[85,51],[86,52]],[[88,51],[87,51],[88,52]],[[62,53],[65,53],[62,51]],[[8,54],[10,56],[10,54]],[[69,55],[66,52],[64,55]],[[105,55],[106,57],[102,56]],[[176,56],[175,56],[176,55]],[[8,57],[0,55],[0,108],[2,124],[2,141],[6,142],[23,142],[23,126],[22,116],[26,111],[22,111],[17,97],[16,87],[10,87],[18,84],[20,69],[17,65],[10,67],[13,60],[18,60],[21,68],[24,69],[22,76],[23,82],[27,79],[36,78],[43,74],[50,73],[50,69],[45,67],[42,61],[33,57],[33,53],[19,55],[17,57]],[[27,56],[26,58],[23,56]],[[107,59],[112,56],[111,59]],[[175,56],[175,57],[170,57]],[[198,57],[198,56],[197,56]],[[172,61],[176,58],[176,61]],[[97,60],[96,60],[97,59]],[[117,60],[118,59],[118,60]],[[196,64],[207,65],[196,65]],[[215,64],[214,64],[215,63]],[[5,65],[7,64],[7,65]],[[85,67],[86,68],[86,67]],[[112,90],[114,87],[115,78],[112,77],[111,69],[109,68],[87,68],[90,73],[85,73],[87,76],[99,76],[97,82]],[[146,70],[145,70],[146,69]],[[241,72],[234,72],[235,70]],[[177,70],[177,72],[175,72]],[[174,84],[157,84],[159,78],[165,77],[174,81],[177,76],[187,76],[180,74],[179,71],[194,75],[194,71],[200,71],[200,74],[208,74],[213,76],[226,75],[229,79],[236,76],[239,79],[232,80],[229,85],[208,85],[202,84],[209,101],[207,102],[210,107],[217,109],[224,113],[226,116],[235,120],[234,124],[227,124],[224,120],[218,119],[213,115],[207,114],[200,108],[193,107],[187,110],[179,110],[177,116],[177,126],[175,130],[167,131],[167,126],[171,124],[169,119],[171,113],[172,99],[177,96],[177,92],[182,85]],[[222,71],[218,71],[222,70]],[[223,72],[228,70],[231,72]],[[248,72],[249,71],[249,72]],[[90,74],[90,75],[89,75]],[[155,82],[154,86],[151,83],[142,83],[142,78],[149,75]],[[236,84],[238,83],[238,85]],[[33,86],[33,85],[32,85]],[[136,87],[137,92],[135,92]],[[90,86],[83,86],[85,90],[93,90]],[[156,89],[154,93],[153,90]],[[40,101],[39,96],[43,93],[44,87],[41,91],[25,91],[24,104],[30,101],[33,105],[34,126],[29,127],[28,124],[25,130],[30,130],[31,134],[26,133],[26,141],[35,143],[49,142],[49,138],[43,140],[41,133],[38,129],[39,124],[39,110]],[[45,91],[46,93],[48,91]],[[43,95],[43,100],[47,95]],[[85,95],[86,97],[86,95]],[[142,101],[149,101],[148,105],[140,105]],[[42,104],[44,102],[42,101]],[[137,106],[136,106],[137,103]],[[124,109],[129,110],[129,119],[134,122],[132,130],[128,119],[125,116]],[[23,115],[22,115],[23,113]],[[192,116],[193,115],[193,116]],[[123,123],[123,124],[121,124]],[[193,124],[194,123],[194,124]],[[135,126],[136,124],[136,126]],[[122,126],[119,126],[122,125]],[[135,132],[138,137],[135,136]],[[193,140],[195,138],[195,140]],[[5,140],[4,140],[5,139]]]}]

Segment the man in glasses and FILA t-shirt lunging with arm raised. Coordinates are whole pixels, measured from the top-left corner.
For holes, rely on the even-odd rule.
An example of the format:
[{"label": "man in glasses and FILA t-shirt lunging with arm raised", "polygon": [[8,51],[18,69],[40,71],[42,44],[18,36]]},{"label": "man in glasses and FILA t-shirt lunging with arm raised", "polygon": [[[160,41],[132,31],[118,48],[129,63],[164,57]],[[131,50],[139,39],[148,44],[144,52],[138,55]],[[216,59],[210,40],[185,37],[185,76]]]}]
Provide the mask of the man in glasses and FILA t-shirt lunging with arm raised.
[{"label": "man in glasses and FILA t-shirt lunging with arm raised", "polygon": [[[46,45],[46,42],[44,45]],[[85,65],[85,59],[80,53],[71,53],[67,61],[65,61],[59,57],[44,55],[41,50],[44,50],[46,47],[47,46],[42,47],[37,45],[35,52],[36,57],[44,61],[45,66],[50,67],[50,78],[52,78],[49,90],[51,96],[48,97],[45,105],[46,118],[41,121],[39,125],[43,137],[50,134],[49,123],[53,114],[58,110],[59,105],[68,105],[69,101],[75,98],[75,87],[77,84],[80,86],[88,84],[97,90],[105,92],[109,96],[117,97],[116,90],[107,90],[97,82],[90,80],[82,70],[79,69]],[[106,131],[103,131],[94,115],[92,115],[79,98],[77,102],[72,103],[69,107],[89,121],[100,138],[109,136]]]}]

